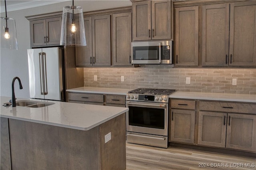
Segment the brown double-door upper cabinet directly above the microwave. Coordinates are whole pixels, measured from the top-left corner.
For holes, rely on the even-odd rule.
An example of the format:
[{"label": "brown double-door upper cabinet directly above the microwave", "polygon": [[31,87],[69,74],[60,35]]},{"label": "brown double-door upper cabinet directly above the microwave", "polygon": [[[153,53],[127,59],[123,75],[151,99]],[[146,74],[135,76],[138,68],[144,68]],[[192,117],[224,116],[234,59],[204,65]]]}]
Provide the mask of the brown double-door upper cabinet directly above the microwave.
[{"label": "brown double-door upper cabinet directly above the microwave", "polygon": [[132,2],[132,40],[172,38],[172,1]]}]

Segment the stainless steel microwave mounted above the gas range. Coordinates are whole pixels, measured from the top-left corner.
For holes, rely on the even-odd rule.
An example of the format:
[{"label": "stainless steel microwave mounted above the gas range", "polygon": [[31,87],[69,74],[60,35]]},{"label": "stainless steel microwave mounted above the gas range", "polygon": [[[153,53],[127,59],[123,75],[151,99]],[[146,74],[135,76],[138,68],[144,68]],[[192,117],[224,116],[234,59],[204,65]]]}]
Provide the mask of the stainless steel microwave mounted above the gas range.
[{"label": "stainless steel microwave mounted above the gas range", "polygon": [[172,64],[172,42],[132,42],[132,64]]}]

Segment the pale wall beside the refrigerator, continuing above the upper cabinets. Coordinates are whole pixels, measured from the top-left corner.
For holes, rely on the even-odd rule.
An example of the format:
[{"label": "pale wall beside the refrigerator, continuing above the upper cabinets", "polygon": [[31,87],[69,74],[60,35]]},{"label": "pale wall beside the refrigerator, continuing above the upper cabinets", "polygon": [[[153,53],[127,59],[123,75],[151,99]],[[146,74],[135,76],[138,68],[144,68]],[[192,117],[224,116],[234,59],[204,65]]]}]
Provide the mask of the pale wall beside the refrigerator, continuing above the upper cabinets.
[{"label": "pale wall beside the refrigerator, continuing above the upper cabinets", "polygon": [[[60,2],[36,8],[11,11],[7,16],[16,21],[18,50],[1,49],[0,51],[0,96],[12,95],[12,79],[20,77],[23,89],[15,82],[16,97],[29,98],[27,49],[30,48],[29,21],[25,16],[62,11],[64,6],[72,5],[72,1]],[[76,0],[74,5],[81,6],[84,11],[131,6],[130,0]],[[1,13],[5,16],[5,13]]]}]

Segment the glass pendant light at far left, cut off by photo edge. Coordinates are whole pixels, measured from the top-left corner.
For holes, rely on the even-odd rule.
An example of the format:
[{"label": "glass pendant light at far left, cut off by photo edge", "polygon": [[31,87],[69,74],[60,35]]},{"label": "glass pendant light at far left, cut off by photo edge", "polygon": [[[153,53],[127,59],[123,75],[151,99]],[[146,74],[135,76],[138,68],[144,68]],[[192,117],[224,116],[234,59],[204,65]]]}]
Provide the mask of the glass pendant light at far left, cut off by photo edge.
[{"label": "glass pendant light at far left, cut off by photo edge", "polygon": [[5,17],[1,17],[1,49],[18,49],[16,25],[13,18],[7,17],[6,0]]}]

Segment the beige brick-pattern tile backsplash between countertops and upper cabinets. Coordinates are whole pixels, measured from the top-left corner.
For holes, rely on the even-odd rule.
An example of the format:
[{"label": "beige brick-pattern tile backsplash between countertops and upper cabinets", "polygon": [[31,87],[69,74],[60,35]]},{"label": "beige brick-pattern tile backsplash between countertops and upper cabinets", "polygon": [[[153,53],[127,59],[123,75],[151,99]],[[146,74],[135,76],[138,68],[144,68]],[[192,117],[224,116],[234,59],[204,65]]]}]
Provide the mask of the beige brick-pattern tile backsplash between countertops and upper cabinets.
[{"label": "beige brick-pattern tile backsplash between countertops and upper cabinets", "polygon": [[[84,86],[256,94],[256,69],[173,68],[172,66],[84,68]],[[94,81],[94,75],[97,75],[97,81]],[[121,81],[121,76],[124,76],[124,81]],[[186,77],[190,77],[190,84],[186,84]],[[232,79],[237,80],[236,85],[232,85]]]}]

